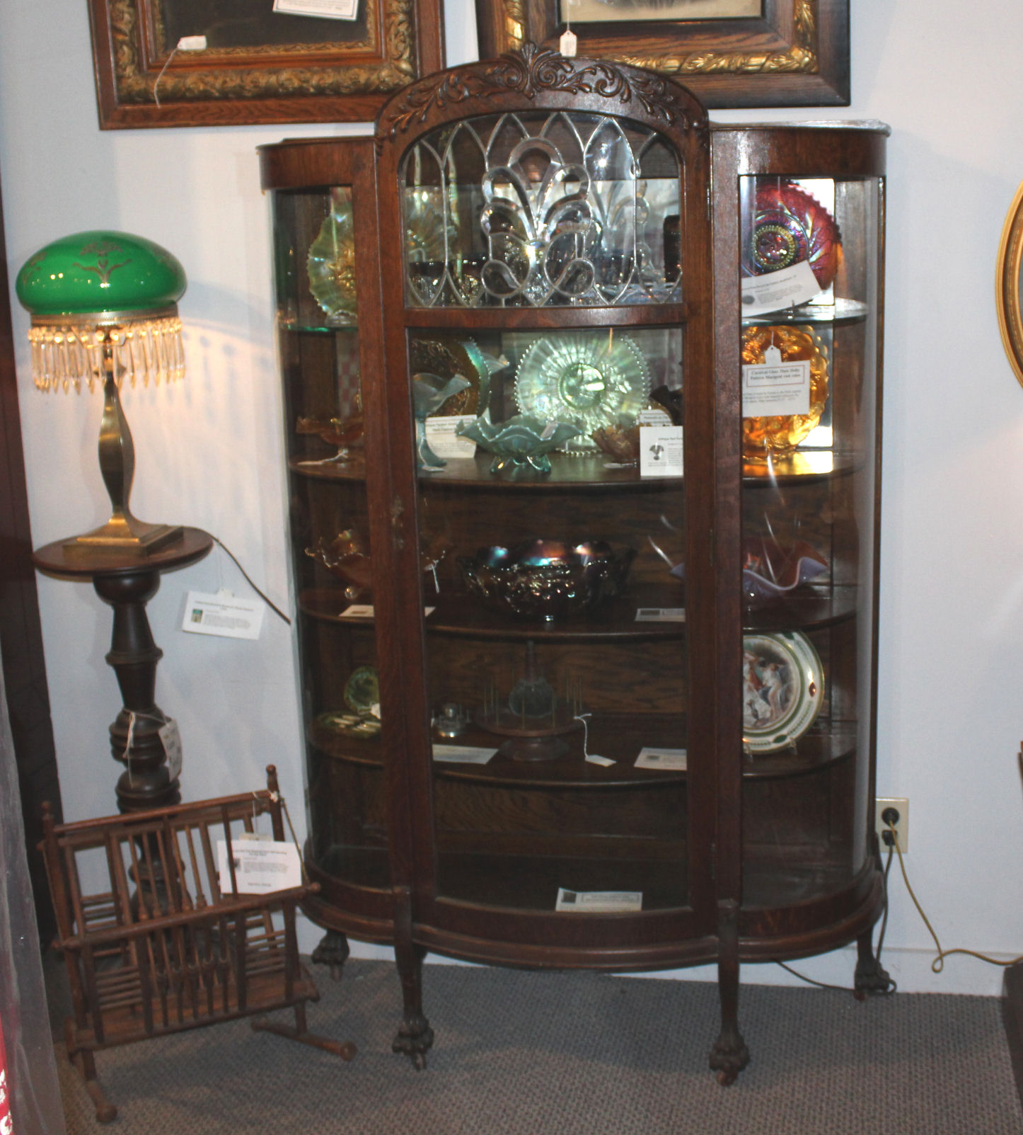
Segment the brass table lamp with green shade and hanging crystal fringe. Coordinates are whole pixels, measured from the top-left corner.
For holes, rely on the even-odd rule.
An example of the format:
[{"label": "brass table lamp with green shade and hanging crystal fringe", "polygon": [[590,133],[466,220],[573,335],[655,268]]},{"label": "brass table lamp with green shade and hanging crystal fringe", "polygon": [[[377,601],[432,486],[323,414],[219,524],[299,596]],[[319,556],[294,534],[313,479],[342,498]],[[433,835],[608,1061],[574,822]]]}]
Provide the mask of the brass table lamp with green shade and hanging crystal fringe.
[{"label": "brass table lamp with green shade and hanging crystal fringe", "polygon": [[110,495],[110,520],[67,540],[67,554],[144,558],[181,539],[180,526],[149,524],[132,515],[135,472],[132,432],[120,404],[125,378],[135,385],[185,372],[177,301],[185,270],[159,244],[128,233],[75,233],[40,249],[16,283],[32,316],[32,377],[42,390],[103,388],[100,471]]}]

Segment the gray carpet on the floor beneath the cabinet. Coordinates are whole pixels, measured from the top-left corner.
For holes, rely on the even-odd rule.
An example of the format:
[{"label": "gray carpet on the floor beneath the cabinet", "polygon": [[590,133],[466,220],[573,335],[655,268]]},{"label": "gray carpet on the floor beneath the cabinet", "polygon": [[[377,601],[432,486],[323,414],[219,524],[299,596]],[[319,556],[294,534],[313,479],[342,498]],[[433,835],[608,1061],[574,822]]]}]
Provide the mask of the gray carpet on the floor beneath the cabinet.
[{"label": "gray carpet on the floor beneath the cabinet", "polygon": [[[425,1071],[390,1052],[395,969],[316,969],[310,1028],[353,1040],[350,1063],[247,1022],[96,1057],[120,1109],[111,1135],[1020,1135],[995,998],[857,1002],[744,985],[752,1060],[719,1087],[707,1054],[712,985],[591,973],[428,966],[437,1033]],[[69,1135],[95,1133],[59,1054]]]}]

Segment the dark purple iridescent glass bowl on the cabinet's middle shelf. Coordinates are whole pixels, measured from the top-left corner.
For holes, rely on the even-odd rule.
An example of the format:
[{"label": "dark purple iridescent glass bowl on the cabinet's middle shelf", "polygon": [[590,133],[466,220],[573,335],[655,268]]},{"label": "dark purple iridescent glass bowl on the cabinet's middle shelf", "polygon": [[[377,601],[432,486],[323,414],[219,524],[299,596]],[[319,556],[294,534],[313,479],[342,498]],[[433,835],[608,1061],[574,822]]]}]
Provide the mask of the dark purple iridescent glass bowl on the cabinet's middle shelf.
[{"label": "dark purple iridescent glass bowl on the cabinet's middle shelf", "polygon": [[552,622],[620,595],[635,554],[602,540],[527,540],[480,548],[458,565],[470,591],[492,611]]}]

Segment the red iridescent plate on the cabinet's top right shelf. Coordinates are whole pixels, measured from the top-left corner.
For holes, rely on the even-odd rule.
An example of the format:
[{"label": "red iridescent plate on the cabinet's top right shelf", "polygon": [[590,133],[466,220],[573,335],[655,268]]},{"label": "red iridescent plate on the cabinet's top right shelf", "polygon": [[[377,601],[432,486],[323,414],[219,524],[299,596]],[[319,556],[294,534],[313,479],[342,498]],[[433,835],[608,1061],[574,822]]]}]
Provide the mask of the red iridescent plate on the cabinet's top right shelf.
[{"label": "red iridescent plate on the cabinet's top right shelf", "polygon": [[821,291],[830,286],[842,262],[842,237],[835,218],[792,182],[756,186],[753,227],[744,249],[751,276],[809,261]]}]

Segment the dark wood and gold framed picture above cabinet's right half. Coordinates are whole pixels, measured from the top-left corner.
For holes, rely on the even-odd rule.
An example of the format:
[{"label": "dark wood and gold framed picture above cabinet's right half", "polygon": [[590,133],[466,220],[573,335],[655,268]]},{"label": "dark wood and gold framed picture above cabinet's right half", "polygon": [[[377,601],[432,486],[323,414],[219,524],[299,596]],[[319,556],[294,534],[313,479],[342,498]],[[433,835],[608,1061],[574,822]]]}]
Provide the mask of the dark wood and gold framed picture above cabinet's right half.
[{"label": "dark wood and gold framed picture above cabinet's right half", "polygon": [[480,56],[526,41],[677,79],[710,108],[849,101],[848,0],[476,0]]}]

